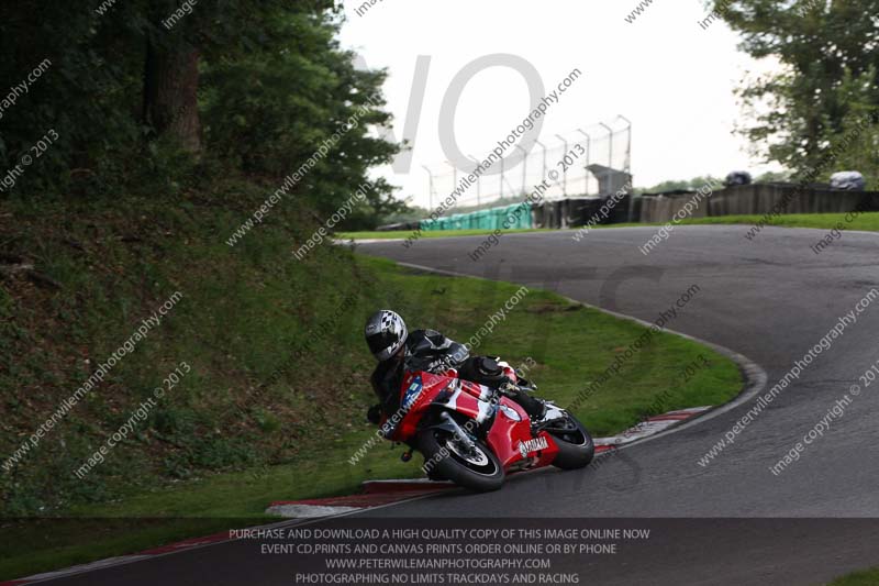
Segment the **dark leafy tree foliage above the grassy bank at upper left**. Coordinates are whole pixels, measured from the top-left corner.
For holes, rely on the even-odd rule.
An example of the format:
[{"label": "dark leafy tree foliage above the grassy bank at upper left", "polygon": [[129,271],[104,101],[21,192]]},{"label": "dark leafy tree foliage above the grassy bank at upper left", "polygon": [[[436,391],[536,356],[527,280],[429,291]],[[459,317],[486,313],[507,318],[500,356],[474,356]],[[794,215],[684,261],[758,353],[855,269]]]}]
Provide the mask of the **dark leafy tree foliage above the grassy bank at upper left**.
[{"label": "dark leafy tree foliage above the grassy bank at upper left", "polygon": [[[385,74],[356,70],[340,48],[332,0],[201,0],[174,19],[176,0],[35,4],[0,5],[3,87],[49,64],[2,111],[0,169],[14,168],[49,129],[59,140],[3,195],[175,194],[230,172],[278,184],[355,117],[294,189],[330,213],[397,152],[369,132],[390,118],[381,110]],[[192,54],[190,88],[174,66]],[[191,93],[197,112],[176,111],[174,100],[155,108],[156,91],[177,92],[178,103]],[[205,146],[196,156],[181,126]],[[390,191],[375,184],[349,226],[369,228],[377,213],[398,209]]]}]

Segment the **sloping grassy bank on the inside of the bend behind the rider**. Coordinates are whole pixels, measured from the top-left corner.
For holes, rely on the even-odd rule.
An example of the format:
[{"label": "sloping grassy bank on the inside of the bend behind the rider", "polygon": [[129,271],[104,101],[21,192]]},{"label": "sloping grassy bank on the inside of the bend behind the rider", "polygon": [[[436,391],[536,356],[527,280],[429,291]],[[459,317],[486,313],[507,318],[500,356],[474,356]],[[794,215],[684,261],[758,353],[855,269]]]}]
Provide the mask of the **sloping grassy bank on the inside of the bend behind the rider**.
[{"label": "sloping grassy bank on the inside of the bend behind the rider", "polygon": [[[235,202],[212,194],[175,207],[84,203],[77,213],[86,219],[76,224],[51,204],[9,209],[18,223],[4,225],[12,231],[5,262],[24,259],[42,277],[0,280],[0,453],[26,440],[171,291],[183,298],[2,475],[4,517],[30,519],[3,522],[0,579],[252,524],[272,500],[420,475],[389,444],[348,462],[374,431],[364,417],[374,402],[374,362],[360,330],[377,308],[466,341],[520,297],[477,352],[513,364],[533,358],[542,395],[561,405],[644,331],[553,294],[413,274],[344,247],[322,246],[297,263],[290,243],[311,228],[290,217],[267,220],[230,248],[225,239],[251,211],[240,201],[245,188],[236,189]],[[685,374],[702,358],[708,366]],[[77,478],[73,471],[181,361],[192,372],[105,462]],[[726,358],[660,334],[577,413],[603,435],[645,414],[723,402],[739,385]]]}]

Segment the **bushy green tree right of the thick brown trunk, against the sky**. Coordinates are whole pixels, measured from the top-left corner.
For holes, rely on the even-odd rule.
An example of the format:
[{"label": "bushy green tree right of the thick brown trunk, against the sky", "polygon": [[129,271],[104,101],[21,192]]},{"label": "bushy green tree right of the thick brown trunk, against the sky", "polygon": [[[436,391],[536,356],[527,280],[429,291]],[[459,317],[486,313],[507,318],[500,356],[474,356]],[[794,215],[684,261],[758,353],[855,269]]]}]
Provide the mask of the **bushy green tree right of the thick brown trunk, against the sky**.
[{"label": "bushy green tree right of the thick brown trunk, against the sky", "polygon": [[[355,69],[335,36],[338,21],[309,12],[265,23],[266,41],[251,51],[208,54],[203,76],[207,140],[251,174],[287,177],[309,163],[293,192],[331,214],[364,183],[369,168],[390,162],[398,146],[369,133],[389,123],[381,110],[383,71]],[[218,47],[222,48],[222,47]],[[313,163],[313,164],[312,164]],[[401,207],[383,180],[370,181],[368,204],[349,217]]]}]

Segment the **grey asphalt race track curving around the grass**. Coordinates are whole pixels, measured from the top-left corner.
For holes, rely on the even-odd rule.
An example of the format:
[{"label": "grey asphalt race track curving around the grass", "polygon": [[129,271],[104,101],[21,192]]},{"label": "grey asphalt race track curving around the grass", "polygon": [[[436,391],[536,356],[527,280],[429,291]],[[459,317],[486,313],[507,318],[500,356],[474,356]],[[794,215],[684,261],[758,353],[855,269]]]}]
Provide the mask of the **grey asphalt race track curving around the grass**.
[{"label": "grey asphalt race track curving around the grass", "polygon": [[[765,229],[747,241],[745,230],[679,226],[648,256],[638,246],[655,228],[593,230],[581,242],[572,232],[509,234],[477,262],[468,253],[481,237],[358,250],[554,289],[646,321],[698,285],[668,327],[748,356],[768,374],[768,389],[879,288],[879,235],[848,232],[816,255],[810,246],[824,231]],[[822,584],[879,565],[879,380],[859,380],[879,360],[878,329],[879,299],[706,466],[700,457],[753,401],[634,445],[597,471],[522,475],[497,494],[443,495],[364,517],[628,518],[655,528],[650,542],[627,553],[571,561],[589,584]],[[856,384],[864,388],[853,397]],[[842,417],[774,475],[769,468],[846,395]],[[292,584],[292,571],[291,559],[224,543],[52,584]]]}]

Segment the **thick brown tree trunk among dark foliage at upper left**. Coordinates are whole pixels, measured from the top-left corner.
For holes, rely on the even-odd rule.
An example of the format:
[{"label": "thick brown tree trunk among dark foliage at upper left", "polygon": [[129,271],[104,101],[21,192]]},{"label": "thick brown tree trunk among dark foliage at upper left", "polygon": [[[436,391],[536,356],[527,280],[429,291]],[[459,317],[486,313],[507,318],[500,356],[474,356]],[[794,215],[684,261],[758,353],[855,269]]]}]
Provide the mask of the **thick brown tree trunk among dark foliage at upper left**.
[{"label": "thick brown tree trunk among dark foliage at upper left", "polygon": [[199,52],[186,43],[149,43],[144,73],[144,121],[157,136],[170,135],[189,153],[201,152],[198,110]]}]

